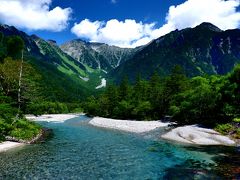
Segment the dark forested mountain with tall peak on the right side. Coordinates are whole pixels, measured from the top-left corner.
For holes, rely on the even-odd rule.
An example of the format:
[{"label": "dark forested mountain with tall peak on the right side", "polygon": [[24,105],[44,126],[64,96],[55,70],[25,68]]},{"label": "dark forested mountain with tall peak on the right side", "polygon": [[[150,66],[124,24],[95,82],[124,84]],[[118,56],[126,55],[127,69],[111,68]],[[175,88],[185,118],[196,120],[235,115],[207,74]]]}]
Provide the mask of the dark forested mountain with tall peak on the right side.
[{"label": "dark forested mountain with tall peak on the right side", "polygon": [[138,74],[149,78],[154,71],[168,75],[180,65],[187,76],[226,74],[240,63],[240,30],[222,31],[210,23],[176,30],[152,41],[115,70],[109,78],[127,75],[133,81]]}]

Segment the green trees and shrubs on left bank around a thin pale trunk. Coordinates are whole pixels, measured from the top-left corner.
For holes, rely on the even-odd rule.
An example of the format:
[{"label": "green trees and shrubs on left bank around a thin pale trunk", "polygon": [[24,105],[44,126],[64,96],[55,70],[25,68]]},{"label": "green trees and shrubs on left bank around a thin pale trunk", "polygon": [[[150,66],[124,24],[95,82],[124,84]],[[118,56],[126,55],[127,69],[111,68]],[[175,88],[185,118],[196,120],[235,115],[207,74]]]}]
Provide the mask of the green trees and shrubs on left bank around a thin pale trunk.
[{"label": "green trees and shrubs on left bank around a thin pale trunk", "polygon": [[38,98],[39,78],[23,61],[23,51],[20,37],[4,37],[0,33],[0,141],[7,136],[29,141],[41,131],[39,125],[23,116],[27,104]]}]

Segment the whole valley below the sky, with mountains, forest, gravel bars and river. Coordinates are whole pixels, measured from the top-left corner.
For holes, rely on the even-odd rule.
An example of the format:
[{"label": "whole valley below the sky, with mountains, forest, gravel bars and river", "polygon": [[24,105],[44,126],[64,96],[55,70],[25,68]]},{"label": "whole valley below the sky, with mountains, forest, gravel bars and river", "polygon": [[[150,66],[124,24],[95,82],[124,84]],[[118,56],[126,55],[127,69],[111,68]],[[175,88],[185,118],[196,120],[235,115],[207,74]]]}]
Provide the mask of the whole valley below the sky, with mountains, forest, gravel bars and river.
[{"label": "whole valley below the sky, with mountains, forest, gravel bars and river", "polygon": [[238,177],[239,29],[121,48],[0,25],[0,40],[0,178]]}]

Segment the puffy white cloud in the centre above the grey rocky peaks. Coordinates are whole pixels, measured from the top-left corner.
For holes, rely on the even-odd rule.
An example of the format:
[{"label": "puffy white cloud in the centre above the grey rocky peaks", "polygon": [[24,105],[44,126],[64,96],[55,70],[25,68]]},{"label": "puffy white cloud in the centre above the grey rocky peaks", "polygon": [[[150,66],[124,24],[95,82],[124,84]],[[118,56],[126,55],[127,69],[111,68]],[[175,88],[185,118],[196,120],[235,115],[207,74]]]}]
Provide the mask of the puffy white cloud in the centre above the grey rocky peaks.
[{"label": "puffy white cloud in the centre above the grey rocky peaks", "polygon": [[[120,47],[132,47],[148,42],[146,39],[151,36],[155,24],[137,23],[135,20],[126,19],[118,21],[116,19],[107,22],[88,19],[74,25],[72,33],[80,38],[89,39],[92,42],[103,42]],[[142,43],[139,43],[142,42]],[[136,44],[136,45],[135,45]]]}]

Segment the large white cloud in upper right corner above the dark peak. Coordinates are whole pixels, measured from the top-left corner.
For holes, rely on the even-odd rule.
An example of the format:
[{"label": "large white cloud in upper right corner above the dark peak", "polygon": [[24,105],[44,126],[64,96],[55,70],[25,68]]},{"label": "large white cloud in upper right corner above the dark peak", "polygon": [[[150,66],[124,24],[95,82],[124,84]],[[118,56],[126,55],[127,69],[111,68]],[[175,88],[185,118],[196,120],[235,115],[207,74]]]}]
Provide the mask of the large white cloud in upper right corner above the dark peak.
[{"label": "large white cloud in upper right corner above the dark peak", "polygon": [[239,0],[188,0],[171,6],[166,20],[169,26],[178,29],[195,27],[202,22],[211,22],[223,30],[237,28],[240,13],[236,8],[239,4]]}]

